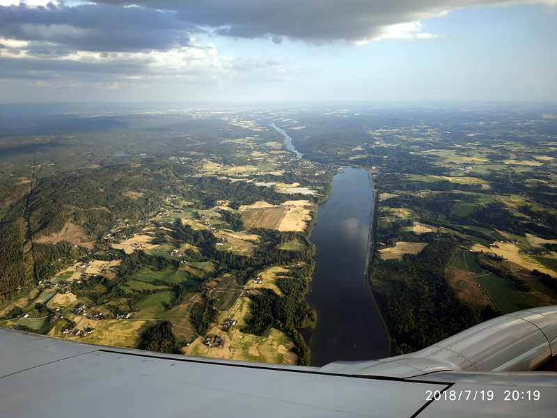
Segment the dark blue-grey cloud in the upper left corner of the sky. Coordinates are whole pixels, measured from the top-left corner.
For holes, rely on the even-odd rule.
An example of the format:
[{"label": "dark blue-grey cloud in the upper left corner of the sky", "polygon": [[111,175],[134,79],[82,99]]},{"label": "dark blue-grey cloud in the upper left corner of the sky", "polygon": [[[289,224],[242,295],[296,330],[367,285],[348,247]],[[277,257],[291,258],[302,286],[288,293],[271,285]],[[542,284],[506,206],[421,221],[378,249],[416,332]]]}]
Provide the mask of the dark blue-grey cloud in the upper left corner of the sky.
[{"label": "dark blue-grey cloud in the upper left corner of the sky", "polygon": [[25,49],[42,56],[168,50],[188,45],[191,29],[172,11],[107,4],[0,6],[0,36],[31,42]]}]

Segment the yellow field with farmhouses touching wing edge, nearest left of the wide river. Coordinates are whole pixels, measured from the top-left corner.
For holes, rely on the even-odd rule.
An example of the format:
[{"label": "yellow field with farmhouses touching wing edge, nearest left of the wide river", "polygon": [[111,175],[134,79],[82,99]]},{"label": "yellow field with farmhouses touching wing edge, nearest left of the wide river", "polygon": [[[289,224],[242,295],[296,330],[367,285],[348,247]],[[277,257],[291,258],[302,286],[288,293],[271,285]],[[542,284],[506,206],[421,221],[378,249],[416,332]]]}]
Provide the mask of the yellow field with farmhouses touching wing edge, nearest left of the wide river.
[{"label": "yellow field with farmhouses touching wing edge, nearest left of the wide river", "polygon": [[[237,320],[235,327],[223,332],[221,325],[213,327],[208,335],[219,335],[225,341],[223,348],[209,348],[203,344],[204,338],[199,337],[187,348],[187,355],[213,357],[219,359],[233,359],[251,362],[265,362],[275,364],[297,364],[297,355],[292,353],[294,344],[292,338],[284,332],[272,328],[269,336],[244,334],[240,328],[245,325],[246,318],[251,316],[251,300],[240,297],[230,311],[230,317]],[[221,314],[219,323],[226,318],[226,312]]]}]

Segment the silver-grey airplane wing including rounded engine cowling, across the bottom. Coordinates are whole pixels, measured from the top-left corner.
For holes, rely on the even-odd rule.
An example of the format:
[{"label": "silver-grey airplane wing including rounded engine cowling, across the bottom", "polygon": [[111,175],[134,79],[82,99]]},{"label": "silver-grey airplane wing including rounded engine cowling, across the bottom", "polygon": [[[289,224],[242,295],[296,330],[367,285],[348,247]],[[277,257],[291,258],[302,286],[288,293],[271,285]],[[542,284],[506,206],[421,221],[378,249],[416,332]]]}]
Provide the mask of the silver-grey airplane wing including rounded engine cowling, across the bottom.
[{"label": "silver-grey airplane wing including rounded engine cowling, across the bottom", "polygon": [[555,417],[557,307],[425,350],[323,367],[96,346],[0,328],[0,417]]}]

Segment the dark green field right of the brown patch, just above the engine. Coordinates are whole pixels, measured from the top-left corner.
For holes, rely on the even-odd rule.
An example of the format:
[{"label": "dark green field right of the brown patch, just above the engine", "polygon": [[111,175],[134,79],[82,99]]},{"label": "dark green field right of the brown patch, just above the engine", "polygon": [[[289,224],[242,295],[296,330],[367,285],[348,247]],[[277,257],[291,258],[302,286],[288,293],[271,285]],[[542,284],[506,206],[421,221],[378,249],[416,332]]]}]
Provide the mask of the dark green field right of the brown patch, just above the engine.
[{"label": "dark green field right of the brown patch, just above the engine", "polygon": [[474,277],[482,286],[483,291],[492,301],[494,307],[503,314],[531,308],[532,305],[517,291],[508,280],[492,273]]}]

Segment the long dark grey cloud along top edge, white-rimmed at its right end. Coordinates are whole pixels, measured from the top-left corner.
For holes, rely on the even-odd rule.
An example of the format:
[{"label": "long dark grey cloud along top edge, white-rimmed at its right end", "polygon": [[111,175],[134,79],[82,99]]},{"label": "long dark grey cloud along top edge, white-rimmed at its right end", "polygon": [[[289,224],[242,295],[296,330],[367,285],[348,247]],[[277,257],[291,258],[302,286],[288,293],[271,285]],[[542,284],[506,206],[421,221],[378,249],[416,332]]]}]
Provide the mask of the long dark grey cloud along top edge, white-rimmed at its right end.
[{"label": "long dark grey cloud along top edge, white-rimmed at its right end", "polygon": [[[100,0],[124,5],[127,0]],[[535,1],[535,0],[534,0]],[[543,1],[543,0],[540,0]],[[549,1],[549,0],[548,0]],[[177,10],[180,19],[212,26],[223,36],[285,36],[306,42],[349,42],[381,36],[386,26],[423,20],[456,8],[510,0],[138,0]],[[276,42],[278,38],[274,38]]]}]

